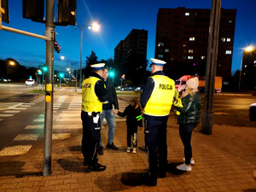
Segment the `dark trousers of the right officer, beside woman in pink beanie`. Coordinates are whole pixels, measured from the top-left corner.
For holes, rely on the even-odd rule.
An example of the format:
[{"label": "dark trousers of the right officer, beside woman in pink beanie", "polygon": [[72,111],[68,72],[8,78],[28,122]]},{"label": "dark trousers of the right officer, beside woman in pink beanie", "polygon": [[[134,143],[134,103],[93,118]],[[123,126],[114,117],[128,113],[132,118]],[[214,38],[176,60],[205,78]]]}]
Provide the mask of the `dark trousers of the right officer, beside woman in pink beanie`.
[{"label": "dark trousers of the right officer, beside woman in pink beanie", "polygon": [[156,179],[159,170],[166,172],[167,145],[166,124],[169,115],[154,117],[145,115],[145,144],[148,150],[148,172]]}]

